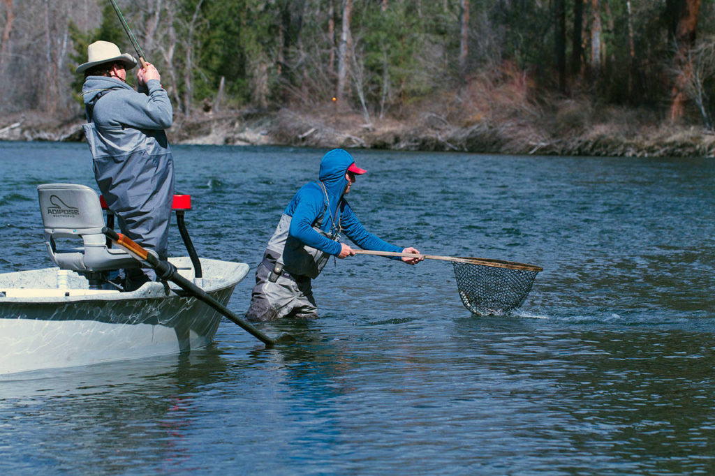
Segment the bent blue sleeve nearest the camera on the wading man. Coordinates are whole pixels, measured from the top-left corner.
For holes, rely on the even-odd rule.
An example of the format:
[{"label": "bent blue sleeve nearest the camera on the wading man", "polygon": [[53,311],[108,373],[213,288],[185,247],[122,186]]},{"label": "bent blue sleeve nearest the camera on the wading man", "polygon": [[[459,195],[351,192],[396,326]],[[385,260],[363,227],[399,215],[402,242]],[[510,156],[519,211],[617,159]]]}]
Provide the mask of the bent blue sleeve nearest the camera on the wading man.
[{"label": "bent blue sleeve nearest the camera on the wading man", "polygon": [[327,239],[312,228],[315,219],[322,214],[324,200],[322,191],[310,187],[310,184],[300,189],[285,210],[292,217],[288,234],[309,247],[337,256],[342,250],[340,243]]}]

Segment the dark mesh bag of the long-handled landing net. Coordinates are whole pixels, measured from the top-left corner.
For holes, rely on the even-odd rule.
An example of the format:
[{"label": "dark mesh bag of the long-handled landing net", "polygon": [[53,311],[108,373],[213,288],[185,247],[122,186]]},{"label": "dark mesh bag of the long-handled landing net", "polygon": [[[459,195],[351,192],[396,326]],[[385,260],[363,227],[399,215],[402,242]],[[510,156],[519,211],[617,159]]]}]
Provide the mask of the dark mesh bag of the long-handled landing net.
[{"label": "dark mesh bag of the long-handled landing net", "polygon": [[506,314],[523,304],[541,268],[453,262],[459,296],[473,314]]}]

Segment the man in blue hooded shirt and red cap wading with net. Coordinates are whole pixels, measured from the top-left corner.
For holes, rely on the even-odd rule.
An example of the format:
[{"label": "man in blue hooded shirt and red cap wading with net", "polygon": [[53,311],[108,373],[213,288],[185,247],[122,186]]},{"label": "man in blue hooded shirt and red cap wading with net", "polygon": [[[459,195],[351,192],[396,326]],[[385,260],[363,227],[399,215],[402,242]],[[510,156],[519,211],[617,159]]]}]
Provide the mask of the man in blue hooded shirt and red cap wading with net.
[{"label": "man in blue hooded shirt and red cap wading with net", "polygon": [[[344,196],[355,183],[355,176],[364,173],[342,149],[333,149],[322,157],[319,180],[298,190],[268,242],[256,270],[247,319],[317,317],[311,279],[320,274],[331,255],[342,259],[355,254],[347,244],[337,241],[341,233],[363,249],[419,253],[413,247],[396,247],[368,233],[355,217]],[[422,258],[402,261],[415,264]]]}]

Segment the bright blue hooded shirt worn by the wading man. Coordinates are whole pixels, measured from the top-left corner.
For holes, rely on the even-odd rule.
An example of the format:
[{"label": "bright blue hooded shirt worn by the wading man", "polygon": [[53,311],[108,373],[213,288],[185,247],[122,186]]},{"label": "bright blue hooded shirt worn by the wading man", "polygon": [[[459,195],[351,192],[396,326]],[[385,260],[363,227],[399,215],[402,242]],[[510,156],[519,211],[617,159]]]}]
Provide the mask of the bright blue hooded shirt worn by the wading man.
[{"label": "bright blue hooded shirt worn by the wading man", "polygon": [[342,247],[339,242],[334,242],[312,229],[312,224],[322,217],[325,211],[320,227],[324,232],[332,234],[333,230],[342,229],[345,236],[360,248],[401,252],[402,248],[385,242],[365,230],[358,217],[355,217],[352,212],[350,204],[342,197],[347,186],[345,173],[353,162],[355,160],[350,154],[342,149],[333,149],[322,157],[319,179],[325,185],[325,192],[319,182],[310,182],[295,194],[285,209],[285,214],[292,217],[290,236],[328,254],[335,256],[340,254]]}]

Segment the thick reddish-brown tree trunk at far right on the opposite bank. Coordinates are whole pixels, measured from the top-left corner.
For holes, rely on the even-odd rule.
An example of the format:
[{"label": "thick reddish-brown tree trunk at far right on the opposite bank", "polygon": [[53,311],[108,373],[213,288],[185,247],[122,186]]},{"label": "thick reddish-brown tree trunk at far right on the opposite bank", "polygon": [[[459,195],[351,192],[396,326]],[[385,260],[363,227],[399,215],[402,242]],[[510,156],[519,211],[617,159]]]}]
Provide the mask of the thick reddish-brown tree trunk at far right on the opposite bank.
[{"label": "thick reddish-brown tree trunk at far right on the opposite bank", "polygon": [[676,122],[685,113],[685,89],[692,76],[688,51],[695,44],[700,0],[667,0],[666,9],[670,20],[669,38],[676,47],[674,70],[677,76],[671,91],[670,109],[671,122]]}]

